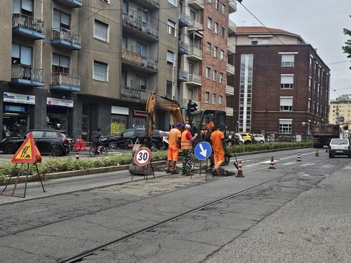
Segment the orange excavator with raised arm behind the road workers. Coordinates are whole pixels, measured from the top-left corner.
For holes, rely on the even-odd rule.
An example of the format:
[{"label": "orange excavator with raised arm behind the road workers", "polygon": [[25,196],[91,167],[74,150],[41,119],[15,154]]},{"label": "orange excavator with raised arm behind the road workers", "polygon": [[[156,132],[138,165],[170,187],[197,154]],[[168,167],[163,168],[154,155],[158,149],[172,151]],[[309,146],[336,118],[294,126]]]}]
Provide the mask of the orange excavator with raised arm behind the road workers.
[{"label": "orange excavator with raised arm behind the road workers", "polygon": [[[161,100],[158,100],[160,98]],[[173,125],[180,122],[184,126],[184,118],[182,116],[182,108],[177,100],[171,100],[165,96],[158,95],[155,92],[151,92],[149,97],[147,98],[147,127],[146,127],[146,135],[145,135],[145,144],[147,147],[151,146],[152,136],[153,136],[153,129],[156,129],[156,112],[158,110],[169,111],[171,115],[171,119]],[[225,111],[219,110],[197,110],[191,113],[189,124],[194,130],[195,133],[198,133],[198,137],[193,141],[193,146],[198,144],[200,141],[205,140],[206,134],[206,119],[209,118],[211,122],[213,122],[214,126],[220,125],[222,128],[222,132],[225,133],[226,128],[226,113]],[[225,149],[226,144],[224,144]],[[210,157],[211,164],[213,164],[213,157]],[[229,155],[225,155],[224,162],[222,165],[228,164],[230,161]],[[129,172],[136,171],[140,169],[134,167],[135,163],[131,163],[129,165]],[[143,168],[142,170],[145,170]],[[138,174],[142,174],[142,172],[138,172]]]}]

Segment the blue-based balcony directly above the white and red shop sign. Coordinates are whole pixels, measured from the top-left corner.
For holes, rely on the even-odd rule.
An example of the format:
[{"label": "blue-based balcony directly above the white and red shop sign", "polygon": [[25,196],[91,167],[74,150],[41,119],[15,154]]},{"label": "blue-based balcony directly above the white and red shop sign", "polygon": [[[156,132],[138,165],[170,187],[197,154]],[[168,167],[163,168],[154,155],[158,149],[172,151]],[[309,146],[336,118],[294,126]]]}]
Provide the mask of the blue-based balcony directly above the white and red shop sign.
[{"label": "blue-based balcony directly above the white and red shop sign", "polygon": [[58,91],[81,91],[81,77],[66,73],[52,73],[50,89]]}]

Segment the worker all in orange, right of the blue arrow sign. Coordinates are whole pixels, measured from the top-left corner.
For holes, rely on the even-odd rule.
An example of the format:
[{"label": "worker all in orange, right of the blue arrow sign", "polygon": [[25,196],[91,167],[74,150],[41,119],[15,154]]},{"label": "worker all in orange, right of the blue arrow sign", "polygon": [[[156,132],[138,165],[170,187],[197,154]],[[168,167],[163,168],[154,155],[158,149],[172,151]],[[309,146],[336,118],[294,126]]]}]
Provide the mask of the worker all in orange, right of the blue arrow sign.
[{"label": "worker all in orange, right of the blue arrow sign", "polygon": [[218,174],[220,165],[224,161],[223,143],[231,139],[231,135],[227,139],[224,138],[224,133],[220,130],[220,125],[217,125],[217,130],[211,134],[211,144],[213,148],[213,158],[215,165],[213,166],[213,173]]}]

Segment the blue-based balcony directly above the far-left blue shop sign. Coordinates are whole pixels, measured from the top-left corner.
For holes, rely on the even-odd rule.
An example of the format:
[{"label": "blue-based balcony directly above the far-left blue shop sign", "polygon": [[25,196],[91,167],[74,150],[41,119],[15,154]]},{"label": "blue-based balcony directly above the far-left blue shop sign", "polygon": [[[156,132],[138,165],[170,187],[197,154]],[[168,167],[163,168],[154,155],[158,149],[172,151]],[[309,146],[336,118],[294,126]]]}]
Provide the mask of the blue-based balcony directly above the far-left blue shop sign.
[{"label": "blue-based balcony directly above the far-left blue shop sign", "polygon": [[12,65],[11,83],[25,86],[44,87],[44,71],[26,65]]}]

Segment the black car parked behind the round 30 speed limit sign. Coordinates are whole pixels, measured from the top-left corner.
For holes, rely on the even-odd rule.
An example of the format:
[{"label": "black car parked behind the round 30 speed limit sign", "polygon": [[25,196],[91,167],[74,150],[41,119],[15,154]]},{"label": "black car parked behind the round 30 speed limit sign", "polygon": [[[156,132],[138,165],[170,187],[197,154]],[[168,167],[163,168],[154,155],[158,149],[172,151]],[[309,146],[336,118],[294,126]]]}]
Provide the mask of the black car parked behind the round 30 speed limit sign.
[{"label": "black car parked behind the round 30 speed limit sign", "polygon": [[[128,144],[129,139],[131,139],[133,144],[135,144],[136,139],[138,138],[140,144],[145,144],[145,128],[131,128],[123,130],[122,133],[118,133],[117,135],[107,135],[104,137],[106,138],[105,144],[107,144],[111,150],[115,150],[117,148],[127,148],[126,144]],[[164,148],[162,139],[163,136],[160,131],[153,130],[151,150]]]}]

